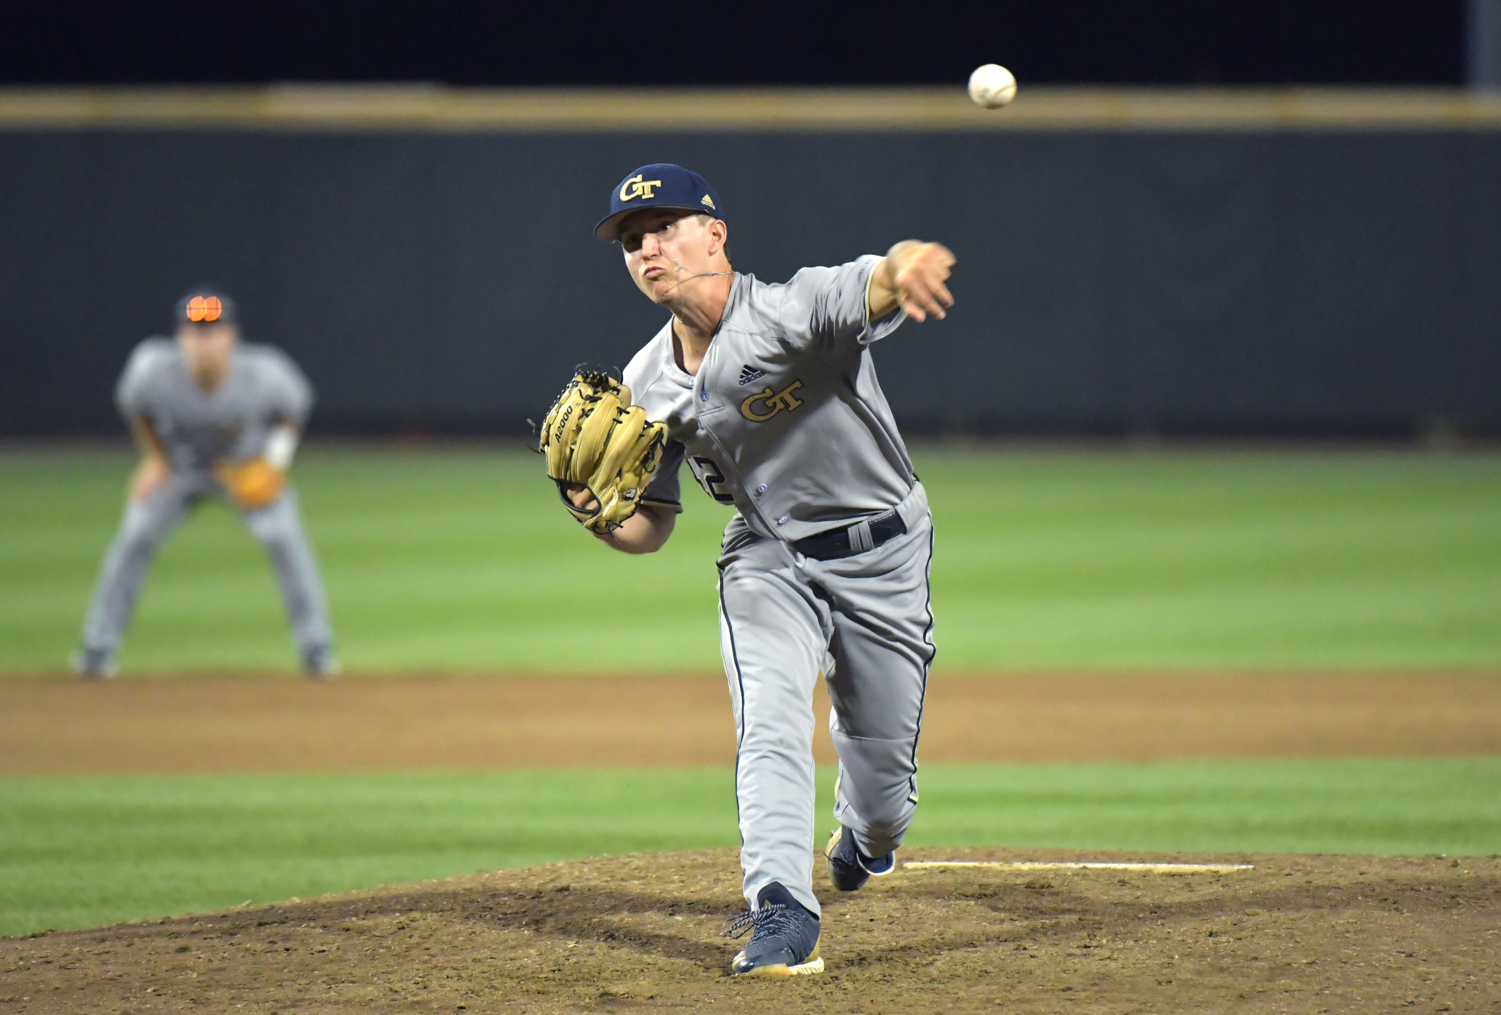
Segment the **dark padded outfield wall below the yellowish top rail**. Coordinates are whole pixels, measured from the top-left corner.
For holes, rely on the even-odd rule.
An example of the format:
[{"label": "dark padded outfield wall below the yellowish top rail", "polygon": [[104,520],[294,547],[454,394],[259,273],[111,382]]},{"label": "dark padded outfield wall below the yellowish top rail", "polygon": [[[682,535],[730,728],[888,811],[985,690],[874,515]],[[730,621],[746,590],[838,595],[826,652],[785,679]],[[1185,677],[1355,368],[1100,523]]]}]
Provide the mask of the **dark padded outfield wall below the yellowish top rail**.
[{"label": "dark padded outfield wall below the yellowish top rail", "polygon": [[1501,134],[0,134],[0,434],[111,387],[216,281],[314,425],[524,429],[663,320],[590,227],[651,161],[735,267],[932,237],[959,305],[877,348],[908,429],[1501,432]]}]

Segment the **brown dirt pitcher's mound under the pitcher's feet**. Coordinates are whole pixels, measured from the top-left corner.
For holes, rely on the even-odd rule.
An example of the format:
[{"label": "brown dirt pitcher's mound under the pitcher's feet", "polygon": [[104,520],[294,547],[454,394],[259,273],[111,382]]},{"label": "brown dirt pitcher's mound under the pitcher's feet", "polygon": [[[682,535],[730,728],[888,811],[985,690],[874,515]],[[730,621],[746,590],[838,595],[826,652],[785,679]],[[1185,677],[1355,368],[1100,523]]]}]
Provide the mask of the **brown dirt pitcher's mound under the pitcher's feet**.
[{"label": "brown dirt pitcher's mound under the pitcher's feet", "polygon": [[827,889],[827,971],[735,980],[732,850],[554,863],[0,941],[0,1012],[1490,1010],[1501,862],[908,850]]}]

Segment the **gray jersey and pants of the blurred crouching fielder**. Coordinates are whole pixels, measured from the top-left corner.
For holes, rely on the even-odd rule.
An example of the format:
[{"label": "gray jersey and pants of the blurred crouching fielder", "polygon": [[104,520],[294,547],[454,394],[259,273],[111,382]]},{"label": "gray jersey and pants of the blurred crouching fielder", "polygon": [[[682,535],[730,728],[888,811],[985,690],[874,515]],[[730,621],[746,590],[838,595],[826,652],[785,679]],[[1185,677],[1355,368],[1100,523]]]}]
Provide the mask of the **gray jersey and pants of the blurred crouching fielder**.
[{"label": "gray jersey and pants of the blurred crouching fielder", "polygon": [[[302,426],[312,408],[312,389],[297,365],[272,345],[240,342],[230,371],[212,392],[188,372],[182,350],[170,338],[135,347],[116,389],[128,420],[144,417],[161,438],[171,479],[144,501],[131,500],[114,544],[105,554],[84,620],[84,649],[114,655],[146,568],[161,542],[204,497],[225,497],[213,477],[221,459],[264,453],[275,426]],[[323,581],[297,514],[297,494],[285,486],[258,511],[240,512],[246,529],[266,548],[276,569],[287,616],[303,658],[333,643]]]}]

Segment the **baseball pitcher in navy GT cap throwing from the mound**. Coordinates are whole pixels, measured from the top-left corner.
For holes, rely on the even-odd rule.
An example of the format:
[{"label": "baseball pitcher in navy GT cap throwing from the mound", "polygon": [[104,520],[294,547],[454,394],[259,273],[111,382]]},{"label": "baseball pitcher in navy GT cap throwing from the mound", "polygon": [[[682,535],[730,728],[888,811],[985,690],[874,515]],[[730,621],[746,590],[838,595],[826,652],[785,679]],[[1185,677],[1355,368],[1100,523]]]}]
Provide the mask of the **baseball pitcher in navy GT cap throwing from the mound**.
[{"label": "baseball pitcher in navy GT cap throwing from the mound", "polygon": [[886,257],[769,285],[729,266],[719,195],[644,165],[599,222],[636,287],[672,317],[623,384],[576,377],[542,450],[564,506],[605,544],[651,553],[672,533],[686,461],[735,508],[719,557],[720,650],[738,736],[735,796],[752,931],[737,974],[823,970],[812,884],[820,674],[839,752],[826,848],[835,887],[895,866],[917,806],[917,734],[934,658],[932,518],[869,345],[944,317],[953,255],[908,240]]}]

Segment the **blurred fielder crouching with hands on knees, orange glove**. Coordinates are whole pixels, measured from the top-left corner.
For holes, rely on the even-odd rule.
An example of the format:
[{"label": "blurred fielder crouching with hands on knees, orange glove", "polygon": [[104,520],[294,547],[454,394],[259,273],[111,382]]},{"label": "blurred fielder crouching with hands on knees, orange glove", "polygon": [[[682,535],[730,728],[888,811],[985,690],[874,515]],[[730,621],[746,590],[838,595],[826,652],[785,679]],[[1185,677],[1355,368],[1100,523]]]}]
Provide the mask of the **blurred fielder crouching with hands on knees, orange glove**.
[{"label": "blurred fielder crouching with hands on knees, orange glove", "polygon": [[200,288],[177,303],[176,341],[149,338],[135,347],[116,402],[143,456],[99,569],[78,673],[114,676],[152,556],[204,497],[227,498],[266,548],[303,671],[336,673],[318,563],[287,483],[312,408],[312,389],[297,365],[272,345],[240,342],[230,297]]}]

